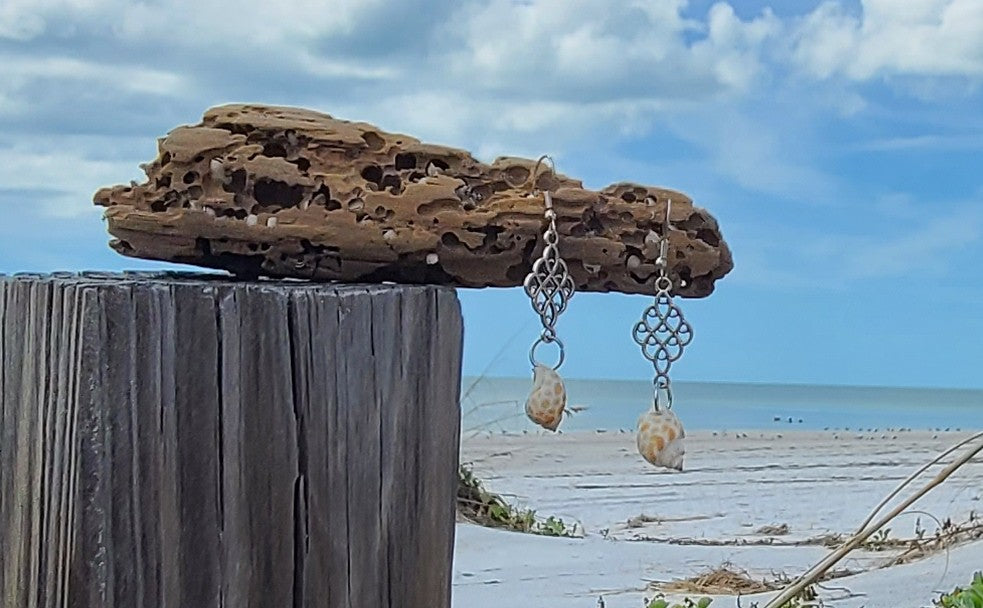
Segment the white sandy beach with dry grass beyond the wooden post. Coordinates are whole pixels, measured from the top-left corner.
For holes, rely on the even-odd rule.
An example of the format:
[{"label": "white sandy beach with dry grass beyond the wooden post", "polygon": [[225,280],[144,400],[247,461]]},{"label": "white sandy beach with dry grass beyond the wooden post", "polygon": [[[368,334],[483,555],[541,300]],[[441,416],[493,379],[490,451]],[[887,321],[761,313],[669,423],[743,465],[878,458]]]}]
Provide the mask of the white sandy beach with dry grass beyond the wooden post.
[{"label": "white sandy beach with dry grass beyond the wooden post", "polygon": [[[695,432],[685,472],[671,473],[644,463],[631,433],[467,435],[462,461],[490,490],[576,523],[583,537],[459,523],[454,605],[591,608],[603,597],[606,608],[640,608],[660,585],[722,566],[757,580],[794,577],[829,553],[825,537],[849,535],[898,483],[967,436]],[[983,511],[983,463],[963,467],[915,509],[922,513],[896,519],[887,538],[914,538],[916,527],[929,537],[938,528],[932,516],[964,523]],[[849,608],[929,606],[983,568],[980,540],[885,567],[905,549],[885,543],[854,552],[837,566],[850,574],[824,583],[822,599]],[[746,596],[741,605],[769,595]],[[714,608],[737,606],[733,596],[714,597]]]}]

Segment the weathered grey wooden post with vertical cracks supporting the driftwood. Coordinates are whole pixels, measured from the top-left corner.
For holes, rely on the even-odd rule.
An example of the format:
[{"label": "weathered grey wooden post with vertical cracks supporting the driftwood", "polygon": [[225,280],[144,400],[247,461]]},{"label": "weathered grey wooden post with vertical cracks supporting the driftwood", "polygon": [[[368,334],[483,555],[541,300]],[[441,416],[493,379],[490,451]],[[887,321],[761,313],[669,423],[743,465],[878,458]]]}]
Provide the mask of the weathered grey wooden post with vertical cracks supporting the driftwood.
[{"label": "weathered grey wooden post with vertical cracks supporting the driftwood", "polygon": [[450,605],[452,291],[0,277],[0,605]]}]

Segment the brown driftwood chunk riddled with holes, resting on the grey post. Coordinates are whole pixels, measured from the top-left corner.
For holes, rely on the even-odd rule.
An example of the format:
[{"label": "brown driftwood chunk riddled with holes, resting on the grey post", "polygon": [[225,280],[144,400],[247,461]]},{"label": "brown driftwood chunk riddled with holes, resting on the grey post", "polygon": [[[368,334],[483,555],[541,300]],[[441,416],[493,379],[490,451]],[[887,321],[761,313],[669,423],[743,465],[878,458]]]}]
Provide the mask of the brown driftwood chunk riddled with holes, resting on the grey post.
[{"label": "brown driftwood chunk riddled with holes, resting on the grey post", "polygon": [[520,285],[542,250],[554,191],[560,251],[582,291],[652,293],[672,199],[677,293],[701,297],[733,266],[716,220],[671,190],[599,192],[535,163],[491,165],[365,123],[233,105],[159,143],[148,181],[100,190],[112,247],[246,276]]}]

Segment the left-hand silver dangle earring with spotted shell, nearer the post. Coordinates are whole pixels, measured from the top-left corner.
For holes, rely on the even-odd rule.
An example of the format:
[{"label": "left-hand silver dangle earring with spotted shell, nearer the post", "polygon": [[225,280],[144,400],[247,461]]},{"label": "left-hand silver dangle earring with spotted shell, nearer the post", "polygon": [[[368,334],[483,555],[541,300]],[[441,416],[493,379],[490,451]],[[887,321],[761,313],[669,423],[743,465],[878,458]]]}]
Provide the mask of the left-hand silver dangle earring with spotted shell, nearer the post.
[{"label": "left-hand silver dangle earring with spotted shell, nearer the post", "polygon": [[[533,193],[536,192],[536,174],[539,165],[544,161],[550,162],[553,175],[556,166],[553,159],[543,156],[536,162],[532,172]],[[529,362],[533,368],[533,385],[529,398],[526,400],[526,415],[529,419],[550,431],[555,431],[563,417],[566,407],[567,394],[563,379],[556,370],[563,365],[563,342],[556,335],[556,322],[560,314],[566,310],[567,303],[573,297],[575,289],[573,279],[567,272],[566,262],[557,250],[559,236],[556,232],[556,212],[553,210],[553,197],[549,190],[543,192],[546,203],[546,230],[543,232],[543,253],[532,265],[532,271],[522,282],[526,295],[532,302],[533,310],[539,314],[543,324],[543,332],[529,349]],[[549,367],[536,359],[536,349],[541,344],[556,344],[560,350],[556,365]]]}]

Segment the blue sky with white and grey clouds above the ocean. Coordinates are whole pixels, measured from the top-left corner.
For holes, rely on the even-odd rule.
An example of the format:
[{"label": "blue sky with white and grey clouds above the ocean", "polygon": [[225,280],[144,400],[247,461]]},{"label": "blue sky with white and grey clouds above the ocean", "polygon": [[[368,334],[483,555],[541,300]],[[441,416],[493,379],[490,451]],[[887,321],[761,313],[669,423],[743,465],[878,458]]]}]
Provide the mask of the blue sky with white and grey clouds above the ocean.
[{"label": "blue sky with white and grey clouds above the ocean", "polygon": [[[92,194],[232,102],[686,192],[735,269],[674,379],[983,388],[980,0],[0,0],[0,272],[162,267]],[[464,373],[528,374],[521,290],[459,295]],[[576,294],[561,372],[650,379],[649,303]]]}]

